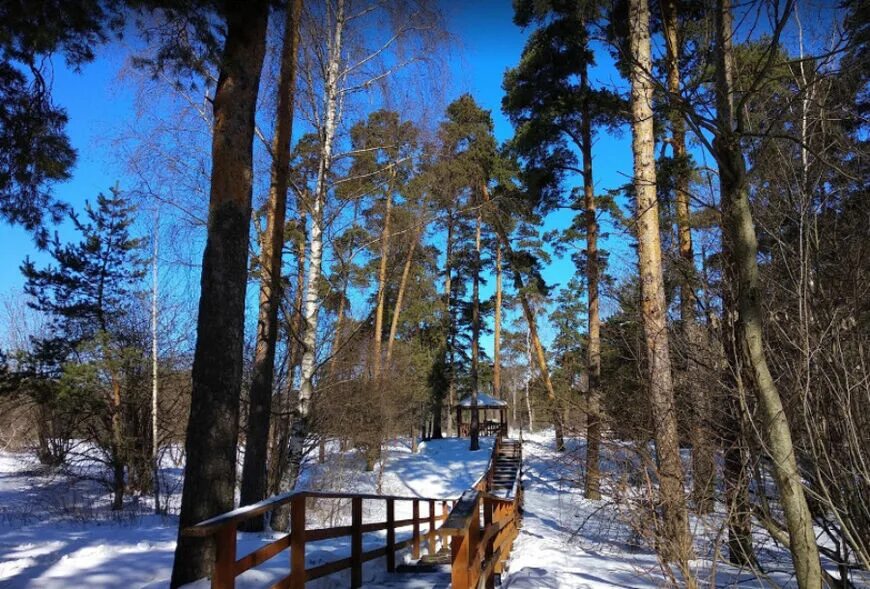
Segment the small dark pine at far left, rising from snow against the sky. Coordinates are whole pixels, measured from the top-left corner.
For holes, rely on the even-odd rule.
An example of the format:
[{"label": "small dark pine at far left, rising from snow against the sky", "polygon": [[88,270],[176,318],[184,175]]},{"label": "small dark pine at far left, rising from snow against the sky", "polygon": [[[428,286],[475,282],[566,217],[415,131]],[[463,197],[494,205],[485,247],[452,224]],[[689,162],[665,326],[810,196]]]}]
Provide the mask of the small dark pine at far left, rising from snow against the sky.
[{"label": "small dark pine at far left, rising from snow against the sky", "polygon": [[86,205],[84,219],[70,216],[81,241],[61,244],[55,236],[49,253],[56,265],[38,269],[28,259],[22,266],[32,306],[51,318],[52,335],[39,342],[37,354],[62,367],[58,394],[75,396],[105,425],[96,442],[106,449],[116,510],[123,507],[129,466],[125,375],[142,353],[125,323],[145,275],[141,241],[130,234],[133,212],[117,188],[100,194],[96,207]]}]

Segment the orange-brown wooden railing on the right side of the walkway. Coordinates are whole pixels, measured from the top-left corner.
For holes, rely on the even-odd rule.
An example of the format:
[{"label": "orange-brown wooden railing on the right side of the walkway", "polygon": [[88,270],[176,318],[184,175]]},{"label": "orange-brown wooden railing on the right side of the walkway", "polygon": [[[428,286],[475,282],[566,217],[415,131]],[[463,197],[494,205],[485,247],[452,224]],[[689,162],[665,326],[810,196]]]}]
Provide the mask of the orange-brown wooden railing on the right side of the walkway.
[{"label": "orange-brown wooden railing on the right side of the walkway", "polygon": [[[491,493],[502,439],[496,438],[489,467],[475,485],[462,494],[441,532],[450,535],[452,589],[495,587],[504,570],[522,515],[522,450],[513,487],[507,497]],[[483,527],[481,527],[481,516]]]}]

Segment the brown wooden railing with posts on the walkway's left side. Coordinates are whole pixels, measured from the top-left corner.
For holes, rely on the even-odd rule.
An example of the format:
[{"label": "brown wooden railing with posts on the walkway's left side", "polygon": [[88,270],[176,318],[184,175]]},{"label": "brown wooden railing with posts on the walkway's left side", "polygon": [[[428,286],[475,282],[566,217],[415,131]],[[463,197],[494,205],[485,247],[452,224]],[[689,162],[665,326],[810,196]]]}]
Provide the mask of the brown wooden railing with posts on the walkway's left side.
[{"label": "brown wooden railing with posts on the walkway's left side", "polygon": [[[308,529],[306,521],[306,500],[308,498],[350,500],[351,524]],[[386,502],[386,520],[363,523],[363,501]],[[411,503],[412,516],[410,518],[401,520],[395,518],[397,502]],[[239,524],[253,517],[262,516],[264,513],[288,503],[290,504],[290,533],[239,558],[236,554],[236,536]],[[290,549],[290,573],[272,585],[271,589],[303,589],[306,581],[313,581],[345,569],[351,571],[351,587],[359,587],[362,585],[363,563],[386,557],[387,571],[392,572],[396,567],[397,550],[410,546],[413,557],[420,558],[420,543],[423,535],[426,538],[429,554],[434,554],[440,535],[437,524],[447,518],[448,505],[453,506],[455,503],[454,499],[303,491],[278,495],[254,505],[241,507],[186,528],[182,533],[186,536],[215,537],[217,555],[211,578],[213,589],[232,589],[235,587],[236,577],[266,562],[287,548]],[[428,507],[428,513],[421,514],[421,504]],[[441,506],[440,513],[436,513],[438,504]],[[427,526],[428,529],[421,533],[421,525]],[[397,542],[396,530],[408,526],[412,527],[411,537]],[[364,552],[363,534],[380,530],[387,532],[386,544],[380,548]],[[351,538],[351,555],[349,557],[305,568],[306,543],[346,536]]]}]

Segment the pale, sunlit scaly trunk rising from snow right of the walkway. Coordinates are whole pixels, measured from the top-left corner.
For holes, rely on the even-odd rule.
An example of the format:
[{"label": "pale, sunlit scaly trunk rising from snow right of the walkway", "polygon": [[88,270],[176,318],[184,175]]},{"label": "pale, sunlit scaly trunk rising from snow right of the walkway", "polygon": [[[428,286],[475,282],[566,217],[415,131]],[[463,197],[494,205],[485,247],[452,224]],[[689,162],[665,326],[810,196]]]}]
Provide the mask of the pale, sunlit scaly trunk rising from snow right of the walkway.
[{"label": "pale, sunlit scaly trunk rising from snow right of the walkway", "polygon": [[[647,0],[629,4],[631,42],[632,151],[637,200],[638,267],[644,339],[649,362],[649,389],[656,437],[659,494],[662,506],[662,550],[666,561],[684,566],[691,558],[683,467],[674,407],[674,385],[668,349],[667,305],[662,275],[662,250],[656,201],[653,83]],[[688,573],[688,571],[686,571]],[[688,581],[688,579],[687,579]]]}]

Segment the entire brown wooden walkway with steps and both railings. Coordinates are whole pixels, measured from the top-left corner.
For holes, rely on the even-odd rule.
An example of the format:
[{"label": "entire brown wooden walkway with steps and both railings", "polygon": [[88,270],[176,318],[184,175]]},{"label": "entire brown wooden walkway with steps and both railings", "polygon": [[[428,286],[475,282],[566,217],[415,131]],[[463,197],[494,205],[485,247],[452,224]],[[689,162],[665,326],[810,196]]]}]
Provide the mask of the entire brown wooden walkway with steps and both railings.
[{"label": "entire brown wooden walkway with steps and both railings", "polygon": [[[351,524],[309,529],[306,519],[308,499],[349,500]],[[377,583],[377,587],[478,589],[494,587],[504,570],[520,528],[522,500],[522,444],[518,440],[498,437],[486,472],[459,498],[302,491],[236,509],[186,528],[182,533],[214,536],[217,543],[217,559],[211,579],[214,589],[233,589],[237,576],[287,548],[290,549],[288,574],[270,589],[304,589],[307,581],[348,569],[350,587],[362,587],[363,563],[377,558],[384,558],[389,573],[386,579]],[[386,520],[363,523],[363,502],[384,502]],[[412,515],[396,519],[396,504],[402,503],[411,505]],[[290,506],[290,532],[239,557],[236,554],[239,525],[287,504]],[[407,528],[410,528],[410,537],[397,541],[396,532]],[[363,551],[363,534],[377,531],[386,531],[386,544]],[[351,539],[350,557],[306,568],[306,543],[342,537]],[[415,564],[397,567],[396,552],[405,548],[410,549]],[[422,554],[424,549],[425,555]]]}]

